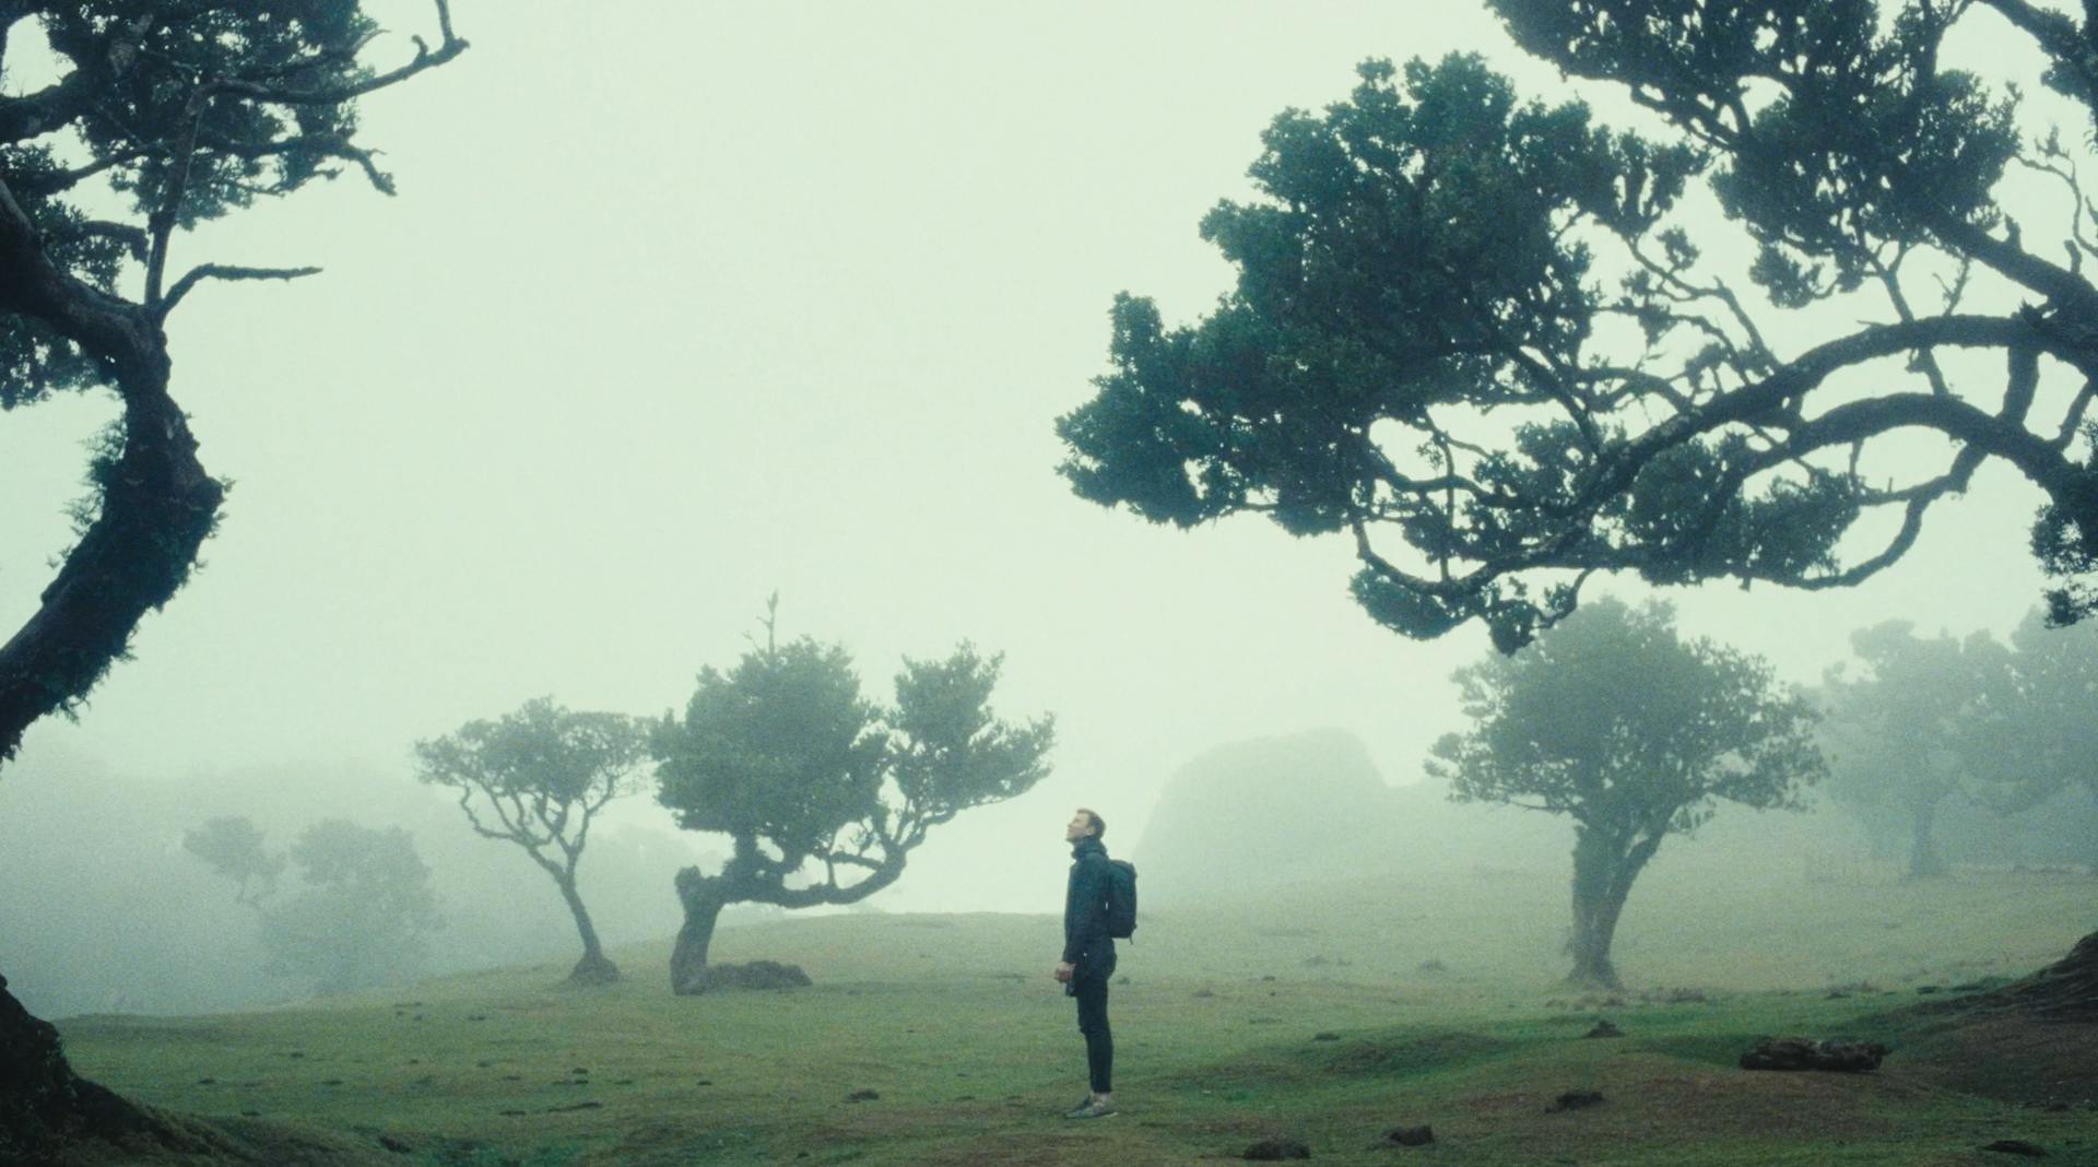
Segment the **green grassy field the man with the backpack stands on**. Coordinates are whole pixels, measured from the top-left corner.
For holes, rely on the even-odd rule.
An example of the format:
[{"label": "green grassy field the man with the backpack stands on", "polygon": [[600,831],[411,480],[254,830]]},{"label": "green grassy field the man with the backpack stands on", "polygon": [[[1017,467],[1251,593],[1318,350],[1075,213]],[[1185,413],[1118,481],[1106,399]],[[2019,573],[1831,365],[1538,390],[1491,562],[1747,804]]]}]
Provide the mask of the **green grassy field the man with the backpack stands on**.
[{"label": "green grassy field the man with the backpack stands on", "polygon": [[[1047,915],[831,915],[724,932],[814,989],[673,999],[667,947],[573,991],[566,963],[210,1018],[61,1022],[76,1066],[157,1106],[342,1131],[390,1163],[1190,1163],[1288,1136],[1318,1161],[1517,1165],[2098,1163],[2098,1026],[1890,1016],[2056,959],[2098,882],[1808,884],[1685,873],[1634,892],[1628,993],[1555,984],[1563,877],[1473,871],[1150,911],[1114,989],[1095,1123]],[[1609,1018],[1624,1037],[1588,1039]],[[1758,1035],[1894,1045],[1876,1075],[1735,1068]],[[1590,1108],[1555,1110],[1574,1089]],[[860,1091],[875,1098],[854,1100]],[[1378,1146],[1433,1125],[1427,1148]],[[382,1146],[380,1140],[388,1140]]]}]

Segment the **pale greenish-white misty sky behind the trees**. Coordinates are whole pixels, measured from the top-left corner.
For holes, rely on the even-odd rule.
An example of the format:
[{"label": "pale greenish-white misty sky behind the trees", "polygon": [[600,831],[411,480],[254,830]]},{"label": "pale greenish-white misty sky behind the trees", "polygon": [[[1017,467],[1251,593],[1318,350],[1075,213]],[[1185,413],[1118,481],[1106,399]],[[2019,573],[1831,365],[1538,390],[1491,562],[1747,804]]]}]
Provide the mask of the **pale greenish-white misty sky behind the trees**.
[{"label": "pale greenish-white misty sky behind the trees", "polygon": [[[397,34],[373,61],[434,23],[411,0],[369,8]],[[1527,94],[1571,92],[1483,10],[453,15],[472,50],[363,105],[399,197],[344,176],[178,241],[176,267],[325,273],[206,285],[172,317],[174,395],[235,481],[222,529],[80,724],[40,724],[0,775],[0,846],[36,829],[6,814],[10,783],[71,781],[40,758],[409,783],[411,741],[537,695],[682,707],[772,590],[785,634],[848,644],[879,695],[902,655],[971,638],[1007,653],[1001,712],[1057,716],[1053,777],[936,833],[892,909],[1053,911],[1070,806],[1129,848],[1173,768],[1221,741],[1345,726],[1406,783],[1458,728],[1448,678],[1485,651],[1475,628],[1378,630],[1347,596],[1345,539],[1083,504],[1051,424],[1104,369],[1114,292],[1187,321],[1227,288],[1198,218],[1248,193],[1278,111],[1343,99],[1360,59],[1477,50]],[[2035,78],[2004,44],[1983,57]],[[113,416],[90,395],[0,418],[8,630]],[[1802,682],[1894,615],[2006,634],[2039,596],[2035,504],[1991,464],[1865,588],[1672,598],[1687,630]],[[646,800],[629,814],[667,823]]]}]

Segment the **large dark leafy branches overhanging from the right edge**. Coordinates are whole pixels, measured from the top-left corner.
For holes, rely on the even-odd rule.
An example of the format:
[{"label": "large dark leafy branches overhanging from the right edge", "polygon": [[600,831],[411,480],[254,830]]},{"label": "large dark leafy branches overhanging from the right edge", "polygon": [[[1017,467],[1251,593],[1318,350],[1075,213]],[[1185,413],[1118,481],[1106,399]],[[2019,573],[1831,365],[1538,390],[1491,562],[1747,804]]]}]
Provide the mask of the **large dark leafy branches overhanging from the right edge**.
[{"label": "large dark leafy branches overhanging from the right edge", "polygon": [[[1057,422],[1080,497],[1347,535],[1374,619],[1422,638],[1479,619],[1511,651],[1599,571],[1859,584],[1999,460],[2046,495],[2050,619],[2098,607],[2092,143],[2029,134],[2018,92],[1941,65],[2010,21],[2098,115],[2098,15],[1492,6],[1664,136],[1519,101],[1475,57],[1370,61],[1347,101],[1282,113],[1261,197],[1202,220],[1236,288],[1183,327],[1116,298],[1110,372]],[[2014,166],[2067,210],[2012,222]],[[1739,246],[1714,254],[1754,262],[1708,262],[1720,216]],[[2043,395],[2056,369],[2083,388]],[[1918,441],[1943,449],[1922,474]]]}]

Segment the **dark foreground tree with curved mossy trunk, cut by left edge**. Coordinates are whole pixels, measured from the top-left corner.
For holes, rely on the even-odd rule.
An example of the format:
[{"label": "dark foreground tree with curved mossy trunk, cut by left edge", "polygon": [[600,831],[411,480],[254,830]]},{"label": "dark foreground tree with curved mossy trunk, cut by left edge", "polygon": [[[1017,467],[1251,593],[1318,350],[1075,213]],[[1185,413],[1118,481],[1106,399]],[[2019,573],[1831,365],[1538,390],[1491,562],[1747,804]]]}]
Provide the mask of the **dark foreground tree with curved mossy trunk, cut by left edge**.
[{"label": "dark foreground tree with curved mossy trunk, cut by left edge", "polygon": [[[109,388],[122,416],[88,468],[78,542],[40,607],[0,642],[0,764],[23,730],[73,712],[147,611],[189,579],[224,485],[170,397],[168,317],[212,279],[313,269],[199,262],[170,279],[178,231],[359,170],[392,181],[359,141],[357,99],[466,50],[436,0],[438,44],[367,65],[378,25],[357,0],[0,2],[0,71],[50,48],[55,80],[0,94],[0,411]],[[10,86],[13,88],[13,86]],[[19,1024],[17,1024],[19,1022]],[[0,1064],[34,1066],[0,1091],[0,1159],[34,1157],[92,1125],[57,1033],[0,980]]]}]

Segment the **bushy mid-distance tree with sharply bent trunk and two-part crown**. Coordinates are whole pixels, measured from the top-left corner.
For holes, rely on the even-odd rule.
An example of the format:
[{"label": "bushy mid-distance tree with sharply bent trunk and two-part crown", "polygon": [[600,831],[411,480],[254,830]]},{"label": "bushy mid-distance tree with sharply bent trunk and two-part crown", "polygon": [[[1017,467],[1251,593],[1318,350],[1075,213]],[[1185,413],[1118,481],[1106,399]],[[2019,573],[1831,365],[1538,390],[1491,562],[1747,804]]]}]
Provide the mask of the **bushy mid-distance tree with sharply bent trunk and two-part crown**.
[{"label": "bushy mid-distance tree with sharply bent trunk and two-part crown", "polygon": [[1041,781],[1053,722],[992,716],[1001,661],[967,642],[942,661],[904,659],[883,707],[860,697],[843,646],[780,644],[768,617],[764,646],[726,674],[701,670],[684,720],[665,716],[652,739],[657,800],[688,831],[726,833],[732,852],[713,875],[678,873],[671,991],[705,989],[724,907],[864,900],[927,831]]}]

